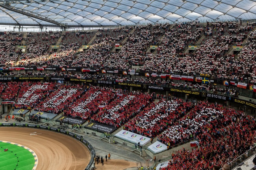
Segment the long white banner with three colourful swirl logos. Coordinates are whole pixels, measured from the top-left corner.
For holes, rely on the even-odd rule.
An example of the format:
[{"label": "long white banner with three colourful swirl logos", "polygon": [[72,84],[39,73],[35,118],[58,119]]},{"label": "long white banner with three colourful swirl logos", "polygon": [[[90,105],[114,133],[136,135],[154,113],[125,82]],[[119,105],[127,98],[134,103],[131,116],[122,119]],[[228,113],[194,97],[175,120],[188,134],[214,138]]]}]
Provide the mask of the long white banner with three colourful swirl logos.
[{"label": "long white banner with three colourful swirl logos", "polygon": [[127,131],[127,130],[121,130],[120,132],[118,132],[117,134],[115,134],[116,137],[127,140],[129,142],[132,143],[138,143],[140,142],[140,144],[143,146],[146,143],[148,143],[150,141],[150,138]]}]

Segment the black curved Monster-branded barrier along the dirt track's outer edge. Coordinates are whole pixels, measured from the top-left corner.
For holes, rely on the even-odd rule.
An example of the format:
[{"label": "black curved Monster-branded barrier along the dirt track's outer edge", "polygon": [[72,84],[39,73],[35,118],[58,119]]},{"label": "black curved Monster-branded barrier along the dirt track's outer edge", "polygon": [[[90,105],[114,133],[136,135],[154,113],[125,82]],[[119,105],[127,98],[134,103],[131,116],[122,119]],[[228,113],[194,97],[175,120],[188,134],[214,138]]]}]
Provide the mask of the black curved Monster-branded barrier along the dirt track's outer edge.
[{"label": "black curved Monster-branded barrier along the dirt track's outer edge", "polygon": [[76,135],[75,133],[66,131],[66,130],[62,130],[59,128],[53,128],[50,126],[41,126],[41,125],[31,125],[31,124],[20,124],[20,123],[0,123],[0,126],[15,126],[15,127],[28,127],[28,128],[38,128],[38,129],[45,129],[45,130],[51,130],[54,132],[59,132],[62,134],[66,134],[68,136],[72,136],[73,138],[79,140],[80,142],[82,142],[90,151],[90,155],[91,155],[91,160],[89,162],[89,164],[87,165],[85,170],[92,170],[94,169],[94,157],[95,157],[95,151],[93,149],[93,146],[90,145],[89,142],[87,142],[87,140],[83,139],[81,136]]}]

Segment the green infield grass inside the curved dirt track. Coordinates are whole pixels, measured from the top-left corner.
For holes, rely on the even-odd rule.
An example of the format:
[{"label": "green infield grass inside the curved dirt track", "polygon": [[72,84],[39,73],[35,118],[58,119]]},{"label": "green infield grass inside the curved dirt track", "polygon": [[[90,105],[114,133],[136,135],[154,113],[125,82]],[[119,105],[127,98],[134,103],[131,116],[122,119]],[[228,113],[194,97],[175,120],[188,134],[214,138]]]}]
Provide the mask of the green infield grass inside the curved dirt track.
[{"label": "green infield grass inside the curved dirt track", "polygon": [[[8,148],[8,151],[4,149]],[[33,154],[20,146],[0,142],[0,169],[32,170],[35,165]]]}]

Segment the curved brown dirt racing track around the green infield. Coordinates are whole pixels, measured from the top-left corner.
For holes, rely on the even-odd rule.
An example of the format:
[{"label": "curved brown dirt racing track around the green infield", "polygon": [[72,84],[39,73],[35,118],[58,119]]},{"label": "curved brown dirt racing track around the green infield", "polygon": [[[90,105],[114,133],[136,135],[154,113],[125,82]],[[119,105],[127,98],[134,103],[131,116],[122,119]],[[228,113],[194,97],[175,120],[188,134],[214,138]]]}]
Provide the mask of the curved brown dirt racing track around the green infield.
[{"label": "curved brown dirt racing track around the green infield", "polygon": [[84,144],[64,134],[33,128],[1,127],[0,136],[0,140],[32,149],[38,157],[36,170],[84,170],[90,162],[90,152]]}]

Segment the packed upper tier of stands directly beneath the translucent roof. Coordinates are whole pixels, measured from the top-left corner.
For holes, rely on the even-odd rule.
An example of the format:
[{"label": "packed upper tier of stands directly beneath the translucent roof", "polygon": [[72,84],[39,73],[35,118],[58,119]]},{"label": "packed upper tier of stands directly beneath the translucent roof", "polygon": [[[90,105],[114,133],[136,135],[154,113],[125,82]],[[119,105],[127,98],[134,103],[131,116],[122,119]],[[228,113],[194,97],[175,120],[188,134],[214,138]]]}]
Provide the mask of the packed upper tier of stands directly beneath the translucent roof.
[{"label": "packed upper tier of stands directly beneath the translucent roof", "polygon": [[[2,32],[0,65],[110,69],[140,66],[142,72],[209,75],[255,83],[254,28],[255,23],[208,22],[204,25],[189,22],[90,32]],[[83,51],[82,43],[90,41],[90,48]],[[27,45],[22,53],[15,47],[21,42]],[[55,53],[50,45],[56,42],[60,46]],[[118,52],[114,51],[116,44],[122,45]],[[193,53],[186,52],[190,44],[197,45]],[[238,55],[231,54],[236,44],[245,45]],[[150,45],[157,46],[154,53],[148,52]]]}]

